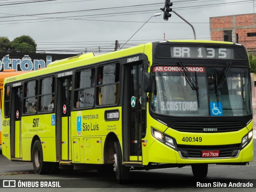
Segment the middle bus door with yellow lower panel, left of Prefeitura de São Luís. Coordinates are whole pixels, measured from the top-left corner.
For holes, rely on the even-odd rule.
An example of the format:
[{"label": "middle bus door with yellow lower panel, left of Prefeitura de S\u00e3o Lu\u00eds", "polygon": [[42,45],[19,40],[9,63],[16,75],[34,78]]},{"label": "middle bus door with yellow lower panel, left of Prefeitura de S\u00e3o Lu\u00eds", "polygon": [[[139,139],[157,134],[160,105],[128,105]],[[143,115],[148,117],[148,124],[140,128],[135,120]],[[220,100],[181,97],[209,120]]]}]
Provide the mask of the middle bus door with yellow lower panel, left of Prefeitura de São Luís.
[{"label": "middle bus door with yellow lower panel, left of Prefeitura de S\u00e3o Lu\u00eds", "polygon": [[[57,159],[63,161],[71,160],[70,144],[70,115],[71,115],[71,89],[72,77],[58,78],[58,96],[56,110],[56,129],[57,129]],[[58,121],[59,120],[59,121]],[[60,123],[58,123],[60,122]],[[61,151],[61,154],[58,153]],[[60,158],[58,158],[60,157]]]}]

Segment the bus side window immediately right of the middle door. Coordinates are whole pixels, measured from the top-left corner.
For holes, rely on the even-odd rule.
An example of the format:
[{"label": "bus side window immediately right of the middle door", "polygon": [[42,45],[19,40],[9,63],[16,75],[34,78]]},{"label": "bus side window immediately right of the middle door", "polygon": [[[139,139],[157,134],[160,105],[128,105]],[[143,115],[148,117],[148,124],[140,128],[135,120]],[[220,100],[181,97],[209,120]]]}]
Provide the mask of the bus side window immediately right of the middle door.
[{"label": "bus side window immediately right of the middle door", "polygon": [[75,108],[92,107],[94,104],[95,69],[76,73]]}]

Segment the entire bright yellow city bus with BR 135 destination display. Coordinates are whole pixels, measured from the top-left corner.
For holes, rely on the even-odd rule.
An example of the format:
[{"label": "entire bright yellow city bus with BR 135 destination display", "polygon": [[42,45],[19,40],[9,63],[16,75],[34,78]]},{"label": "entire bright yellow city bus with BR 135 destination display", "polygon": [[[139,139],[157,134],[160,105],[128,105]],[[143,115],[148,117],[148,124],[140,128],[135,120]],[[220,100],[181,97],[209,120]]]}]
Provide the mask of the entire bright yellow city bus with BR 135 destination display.
[{"label": "entire bright yellow city bus with BR 135 destination display", "polygon": [[205,177],[208,164],[253,159],[240,44],[170,40],[86,53],[4,79],[3,103],[2,153],[32,161],[37,174],[112,167],[122,183],[131,170],[191,166]]}]

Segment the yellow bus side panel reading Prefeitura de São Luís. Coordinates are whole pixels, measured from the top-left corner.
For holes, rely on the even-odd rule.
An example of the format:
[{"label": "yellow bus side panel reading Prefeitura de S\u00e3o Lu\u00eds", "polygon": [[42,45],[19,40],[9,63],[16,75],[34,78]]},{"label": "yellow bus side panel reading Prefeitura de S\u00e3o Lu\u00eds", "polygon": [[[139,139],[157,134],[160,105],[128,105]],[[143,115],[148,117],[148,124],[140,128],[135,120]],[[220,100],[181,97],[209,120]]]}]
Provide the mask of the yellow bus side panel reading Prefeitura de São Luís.
[{"label": "yellow bus side panel reading Prefeitura de S\u00e3o Lu\u00eds", "polygon": [[[107,120],[105,111],[119,111],[119,117]],[[104,142],[113,132],[120,136],[122,146],[122,108],[81,110],[71,113],[72,162],[102,164],[104,161]],[[107,115],[106,115],[107,116]],[[81,117],[82,121],[78,121]]]}]

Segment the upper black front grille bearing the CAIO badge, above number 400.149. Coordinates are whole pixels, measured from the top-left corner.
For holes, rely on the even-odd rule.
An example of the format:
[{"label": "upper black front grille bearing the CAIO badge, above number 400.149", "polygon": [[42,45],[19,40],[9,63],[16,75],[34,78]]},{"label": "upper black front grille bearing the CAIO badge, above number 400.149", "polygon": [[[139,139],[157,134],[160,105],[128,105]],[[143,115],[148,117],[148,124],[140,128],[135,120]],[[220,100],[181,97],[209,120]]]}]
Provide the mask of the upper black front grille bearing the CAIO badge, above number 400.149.
[{"label": "upper black front grille bearing the CAIO badge, above number 400.149", "polygon": [[180,132],[223,133],[239,131],[244,128],[242,122],[175,122],[170,126]]}]

